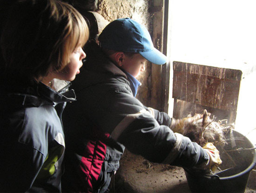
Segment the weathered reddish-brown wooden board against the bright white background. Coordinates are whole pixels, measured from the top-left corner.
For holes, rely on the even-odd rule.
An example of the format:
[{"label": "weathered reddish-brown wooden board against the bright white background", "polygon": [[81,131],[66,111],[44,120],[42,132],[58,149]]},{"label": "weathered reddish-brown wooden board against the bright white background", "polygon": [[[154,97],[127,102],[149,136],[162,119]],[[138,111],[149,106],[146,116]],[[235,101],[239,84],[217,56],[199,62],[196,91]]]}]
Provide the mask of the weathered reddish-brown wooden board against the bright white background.
[{"label": "weathered reddish-brown wooden board against the bright white background", "polygon": [[173,98],[236,111],[242,71],[174,62]]}]

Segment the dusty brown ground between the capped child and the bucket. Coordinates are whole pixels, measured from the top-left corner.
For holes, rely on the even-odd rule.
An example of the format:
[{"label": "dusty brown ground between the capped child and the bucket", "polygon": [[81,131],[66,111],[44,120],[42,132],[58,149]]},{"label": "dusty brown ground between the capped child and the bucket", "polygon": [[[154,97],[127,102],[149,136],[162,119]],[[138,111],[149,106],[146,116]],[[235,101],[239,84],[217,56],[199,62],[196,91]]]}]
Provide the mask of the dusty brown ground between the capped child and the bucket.
[{"label": "dusty brown ground between the capped child and the bucket", "polygon": [[[191,193],[181,167],[150,163],[125,151],[110,193]],[[256,193],[246,188],[245,193]]]}]

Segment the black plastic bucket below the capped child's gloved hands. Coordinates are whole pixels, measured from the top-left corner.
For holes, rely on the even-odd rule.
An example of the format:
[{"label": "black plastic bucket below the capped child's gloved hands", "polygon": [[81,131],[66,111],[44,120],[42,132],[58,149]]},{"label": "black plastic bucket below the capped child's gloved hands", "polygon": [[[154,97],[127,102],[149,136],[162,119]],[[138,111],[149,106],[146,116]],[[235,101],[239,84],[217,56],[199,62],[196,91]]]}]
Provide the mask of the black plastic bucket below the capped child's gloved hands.
[{"label": "black plastic bucket below the capped child's gloved hands", "polygon": [[[230,168],[229,164],[234,164],[231,169],[216,175],[202,175],[186,170],[188,185],[193,193],[243,193],[250,171],[256,165],[256,150],[254,145],[241,133],[233,130],[226,135],[227,145],[220,151],[222,170]],[[235,145],[234,145],[235,144]],[[238,148],[246,149],[244,151],[228,151],[232,154],[226,155],[228,150]],[[230,156],[230,157],[229,157]],[[226,162],[226,163],[225,163]],[[231,163],[233,162],[233,163]],[[223,165],[223,166],[222,166]],[[226,165],[226,166],[225,166]]]}]

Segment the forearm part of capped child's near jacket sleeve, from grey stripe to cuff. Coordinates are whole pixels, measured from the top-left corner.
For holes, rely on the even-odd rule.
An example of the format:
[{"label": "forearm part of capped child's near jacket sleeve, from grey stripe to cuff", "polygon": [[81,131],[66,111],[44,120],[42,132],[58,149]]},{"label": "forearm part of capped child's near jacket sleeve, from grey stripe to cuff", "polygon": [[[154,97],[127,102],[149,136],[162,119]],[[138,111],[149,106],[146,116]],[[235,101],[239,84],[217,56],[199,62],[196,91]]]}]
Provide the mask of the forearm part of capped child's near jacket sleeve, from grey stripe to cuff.
[{"label": "forearm part of capped child's near jacket sleeve, from grey stripe to cuff", "polygon": [[168,126],[159,125],[148,111],[139,114],[121,133],[118,133],[121,127],[112,133],[112,137],[132,153],[153,162],[187,168],[209,159],[201,146],[179,133],[173,133]]}]

